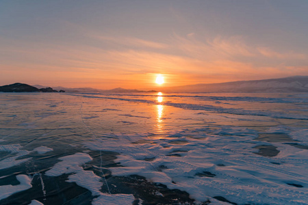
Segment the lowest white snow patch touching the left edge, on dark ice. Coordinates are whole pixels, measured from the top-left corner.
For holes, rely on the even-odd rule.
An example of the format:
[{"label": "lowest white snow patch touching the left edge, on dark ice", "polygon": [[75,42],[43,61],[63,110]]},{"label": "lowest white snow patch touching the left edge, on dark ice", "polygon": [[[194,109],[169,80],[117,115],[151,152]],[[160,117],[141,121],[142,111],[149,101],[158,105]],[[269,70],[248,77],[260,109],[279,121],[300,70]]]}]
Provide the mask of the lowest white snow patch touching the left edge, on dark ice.
[{"label": "lowest white snow patch touching the left edge, on dark ice", "polygon": [[12,195],[13,193],[24,191],[32,187],[31,178],[29,176],[20,174],[16,176],[16,179],[21,184],[18,184],[15,186],[12,186],[12,185],[0,186],[0,200],[5,199],[6,197]]}]

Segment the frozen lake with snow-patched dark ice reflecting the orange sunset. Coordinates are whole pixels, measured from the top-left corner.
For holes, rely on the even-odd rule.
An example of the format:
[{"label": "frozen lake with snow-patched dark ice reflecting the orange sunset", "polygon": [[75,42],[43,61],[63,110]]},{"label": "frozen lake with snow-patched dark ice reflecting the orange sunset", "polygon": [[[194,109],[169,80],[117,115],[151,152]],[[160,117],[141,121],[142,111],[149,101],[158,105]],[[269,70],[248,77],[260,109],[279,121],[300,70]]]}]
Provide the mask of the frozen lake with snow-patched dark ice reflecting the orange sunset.
[{"label": "frozen lake with snow-patched dark ice reflecting the orange sunset", "polygon": [[0,204],[308,204],[308,94],[0,93]]}]

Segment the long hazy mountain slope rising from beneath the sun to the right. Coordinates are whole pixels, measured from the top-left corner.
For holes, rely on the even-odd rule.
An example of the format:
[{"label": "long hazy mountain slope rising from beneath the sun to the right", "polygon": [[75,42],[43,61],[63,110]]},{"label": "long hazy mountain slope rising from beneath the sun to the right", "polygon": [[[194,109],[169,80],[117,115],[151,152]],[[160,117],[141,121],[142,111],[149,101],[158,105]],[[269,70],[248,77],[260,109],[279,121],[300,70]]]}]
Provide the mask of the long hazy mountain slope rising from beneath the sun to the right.
[{"label": "long hazy mountain slope rising from beneath the sun to the right", "polygon": [[164,87],[160,92],[308,92],[308,76]]}]

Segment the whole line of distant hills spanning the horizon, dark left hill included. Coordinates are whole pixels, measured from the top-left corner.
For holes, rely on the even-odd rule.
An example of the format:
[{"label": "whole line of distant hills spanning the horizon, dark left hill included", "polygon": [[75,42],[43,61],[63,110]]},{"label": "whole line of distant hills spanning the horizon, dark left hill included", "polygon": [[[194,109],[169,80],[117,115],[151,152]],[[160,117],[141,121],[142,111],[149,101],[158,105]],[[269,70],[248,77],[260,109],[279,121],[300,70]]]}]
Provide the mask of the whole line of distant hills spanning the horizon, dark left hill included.
[{"label": "whole line of distant hills spanning the horizon, dark left hill included", "polygon": [[[53,90],[54,89],[54,90]],[[47,87],[42,85],[27,85],[14,83],[0,86],[0,92],[79,92],[79,93],[131,93],[157,92],[156,90],[130,90],[121,87],[112,90],[99,90],[92,87]],[[228,83],[202,83],[177,87],[162,87],[159,92],[308,92],[308,76],[294,76],[281,79],[266,79],[258,81],[234,81]]]}]

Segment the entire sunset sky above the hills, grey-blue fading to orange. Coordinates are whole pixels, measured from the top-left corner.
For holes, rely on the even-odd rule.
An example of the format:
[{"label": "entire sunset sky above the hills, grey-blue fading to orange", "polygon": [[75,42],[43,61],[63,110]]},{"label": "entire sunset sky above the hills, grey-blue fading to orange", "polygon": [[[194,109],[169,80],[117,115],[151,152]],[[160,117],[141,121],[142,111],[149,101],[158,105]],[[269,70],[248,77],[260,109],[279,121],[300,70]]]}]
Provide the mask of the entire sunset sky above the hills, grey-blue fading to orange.
[{"label": "entire sunset sky above the hills, grey-blue fading to orange", "polygon": [[308,75],[307,11],[306,0],[1,0],[0,85],[146,89]]}]

